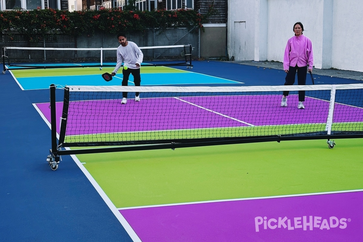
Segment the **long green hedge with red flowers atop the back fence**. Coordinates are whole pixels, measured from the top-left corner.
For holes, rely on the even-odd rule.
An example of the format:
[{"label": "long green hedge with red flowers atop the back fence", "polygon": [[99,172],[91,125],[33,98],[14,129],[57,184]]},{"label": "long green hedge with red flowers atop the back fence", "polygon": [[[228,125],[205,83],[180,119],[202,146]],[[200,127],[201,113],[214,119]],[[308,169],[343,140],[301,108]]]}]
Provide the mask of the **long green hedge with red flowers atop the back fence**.
[{"label": "long green hedge with red flowers atop the back fence", "polygon": [[194,10],[177,11],[122,11],[119,9],[63,11],[58,9],[34,9],[0,11],[0,30],[11,35],[23,34],[29,41],[49,35],[93,35],[97,32],[145,32],[150,28],[203,29],[207,15]]}]

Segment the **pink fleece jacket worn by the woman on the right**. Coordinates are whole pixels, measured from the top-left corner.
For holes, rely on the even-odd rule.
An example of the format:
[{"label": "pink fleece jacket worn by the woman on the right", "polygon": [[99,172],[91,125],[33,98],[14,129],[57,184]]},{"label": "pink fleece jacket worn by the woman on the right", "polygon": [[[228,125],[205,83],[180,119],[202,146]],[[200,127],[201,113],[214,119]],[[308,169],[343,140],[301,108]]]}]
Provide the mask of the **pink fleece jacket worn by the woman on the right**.
[{"label": "pink fleece jacket worn by the woman on the right", "polygon": [[305,35],[293,36],[287,41],[284,54],[284,70],[289,66],[307,66],[313,69],[314,55],[311,40]]}]

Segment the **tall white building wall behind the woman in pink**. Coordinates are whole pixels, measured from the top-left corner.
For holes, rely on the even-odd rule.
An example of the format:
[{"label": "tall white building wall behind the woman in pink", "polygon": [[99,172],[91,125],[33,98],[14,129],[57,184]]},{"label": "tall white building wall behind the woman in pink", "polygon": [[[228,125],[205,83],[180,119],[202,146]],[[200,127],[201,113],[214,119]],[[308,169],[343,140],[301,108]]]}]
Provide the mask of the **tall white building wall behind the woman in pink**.
[{"label": "tall white building wall behind the woman in pink", "polygon": [[[358,0],[228,0],[228,54],[236,61],[282,62],[293,25],[302,22],[315,68],[363,71],[362,12]],[[246,21],[244,56],[233,49],[235,21]]]}]

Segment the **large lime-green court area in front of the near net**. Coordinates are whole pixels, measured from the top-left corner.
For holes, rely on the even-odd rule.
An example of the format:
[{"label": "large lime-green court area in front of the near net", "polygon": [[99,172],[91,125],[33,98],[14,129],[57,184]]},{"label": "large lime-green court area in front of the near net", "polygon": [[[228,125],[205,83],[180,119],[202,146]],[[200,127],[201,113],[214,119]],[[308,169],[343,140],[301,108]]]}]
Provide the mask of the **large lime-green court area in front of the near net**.
[{"label": "large lime-green court area in front of the near net", "polygon": [[363,188],[363,139],[77,155],[117,208]]}]

